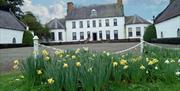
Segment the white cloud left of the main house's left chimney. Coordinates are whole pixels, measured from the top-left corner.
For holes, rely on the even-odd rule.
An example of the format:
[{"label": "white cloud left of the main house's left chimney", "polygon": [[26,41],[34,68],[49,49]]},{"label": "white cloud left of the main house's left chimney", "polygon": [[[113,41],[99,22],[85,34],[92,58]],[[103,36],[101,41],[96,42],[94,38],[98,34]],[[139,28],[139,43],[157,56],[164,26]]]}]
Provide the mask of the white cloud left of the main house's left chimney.
[{"label": "white cloud left of the main house's left chimney", "polygon": [[63,18],[65,16],[64,5],[61,2],[57,2],[50,6],[33,5],[32,0],[24,0],[24,6],[22,7],[24,12],[31,11],[42,24],[47,23],[54,18]]}]

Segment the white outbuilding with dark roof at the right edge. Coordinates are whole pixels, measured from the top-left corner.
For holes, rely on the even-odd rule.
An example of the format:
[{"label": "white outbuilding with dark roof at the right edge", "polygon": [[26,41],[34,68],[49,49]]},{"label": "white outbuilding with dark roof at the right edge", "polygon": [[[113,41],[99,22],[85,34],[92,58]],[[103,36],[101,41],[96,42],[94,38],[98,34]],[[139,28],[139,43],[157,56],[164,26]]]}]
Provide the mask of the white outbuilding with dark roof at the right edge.
[{"label": "white outbuilding with dark roof at the right edge", "polygon": [[155,19],[157,38],[180,37],[180,0],[170,0],[169,5]]}]

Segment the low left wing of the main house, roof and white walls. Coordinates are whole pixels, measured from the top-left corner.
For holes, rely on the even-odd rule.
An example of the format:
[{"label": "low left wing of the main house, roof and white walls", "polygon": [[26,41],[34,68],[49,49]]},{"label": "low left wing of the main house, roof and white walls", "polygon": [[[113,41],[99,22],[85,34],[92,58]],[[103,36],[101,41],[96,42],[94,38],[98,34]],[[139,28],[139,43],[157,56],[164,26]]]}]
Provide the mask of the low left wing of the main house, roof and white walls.
[{"label": "low left wing of the main house, roof and white walls", "polygon": [[65,20],[64,19],[53,19],[47,23],[47,27],[50,29],[51,40],[50,42],[65,42],[66,31],[65,31]]}]

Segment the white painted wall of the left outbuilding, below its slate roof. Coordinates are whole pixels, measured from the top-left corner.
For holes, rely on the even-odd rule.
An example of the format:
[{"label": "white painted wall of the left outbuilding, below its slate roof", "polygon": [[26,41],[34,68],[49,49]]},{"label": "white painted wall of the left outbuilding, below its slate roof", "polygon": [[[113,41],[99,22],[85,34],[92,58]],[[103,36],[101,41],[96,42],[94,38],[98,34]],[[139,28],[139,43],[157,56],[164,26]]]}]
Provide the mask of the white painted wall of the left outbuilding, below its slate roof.
[{"label": "white painted wall of the left outbuilding, below its slate roof", "polygon": [[24,31],[0,28],[0,44],[12,44],[16,38],[16,44],[21,44]]}]

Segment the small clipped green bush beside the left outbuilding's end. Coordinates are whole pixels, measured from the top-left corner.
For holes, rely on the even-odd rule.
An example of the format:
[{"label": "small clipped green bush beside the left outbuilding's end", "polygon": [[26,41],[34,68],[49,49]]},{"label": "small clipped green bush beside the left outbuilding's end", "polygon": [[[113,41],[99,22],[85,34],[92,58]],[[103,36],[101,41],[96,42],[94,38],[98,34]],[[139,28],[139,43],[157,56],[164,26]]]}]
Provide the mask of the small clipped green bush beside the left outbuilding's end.
[{"label": "small clipped green bush beside the left outbuilding's end", "polygon": [[33,44],[33,35],[30,31],[25,31],[23,34],[23,44],[32,45]]}]

